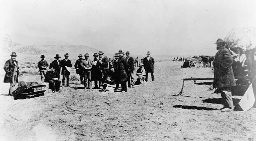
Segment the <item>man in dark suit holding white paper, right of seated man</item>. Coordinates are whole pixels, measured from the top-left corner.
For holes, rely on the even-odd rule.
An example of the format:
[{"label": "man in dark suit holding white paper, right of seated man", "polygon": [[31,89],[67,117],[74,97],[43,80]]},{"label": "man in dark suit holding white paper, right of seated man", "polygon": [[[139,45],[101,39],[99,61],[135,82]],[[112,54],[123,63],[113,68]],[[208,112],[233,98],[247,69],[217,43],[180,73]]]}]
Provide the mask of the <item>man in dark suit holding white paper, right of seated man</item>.
[{"label": "man in dark suit holding white paper, right of seated man", "polygon": [[69,55],[68,53],[66,53],[64,55],[65,59],[61,60],[60,62],[60,67],[62,67],[61,70],[61,75],[62,75],[62,87],[65,87],[65,80],[67,78],[67,87],[69,87],[69,75],[70,72],[68,71],[68,69],[70,69],[72,67],[71,61],[68,59]]}]

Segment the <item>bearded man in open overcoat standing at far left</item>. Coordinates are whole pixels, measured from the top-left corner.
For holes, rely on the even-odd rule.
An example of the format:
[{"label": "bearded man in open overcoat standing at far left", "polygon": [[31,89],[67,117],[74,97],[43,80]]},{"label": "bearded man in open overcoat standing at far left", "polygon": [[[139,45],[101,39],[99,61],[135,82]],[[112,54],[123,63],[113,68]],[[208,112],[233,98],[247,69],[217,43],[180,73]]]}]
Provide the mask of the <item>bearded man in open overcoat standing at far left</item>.
[{"label": "bearded man in open overcoat standing at far left", "polygon": [[16,53],[11,54],[11,59],[7,60],[4,65],[4,83],[11,83],[9,89],[9,95],[13,95],[12,92],[15,90],[15,85],[18,83],[19,66],[16,60]]}]

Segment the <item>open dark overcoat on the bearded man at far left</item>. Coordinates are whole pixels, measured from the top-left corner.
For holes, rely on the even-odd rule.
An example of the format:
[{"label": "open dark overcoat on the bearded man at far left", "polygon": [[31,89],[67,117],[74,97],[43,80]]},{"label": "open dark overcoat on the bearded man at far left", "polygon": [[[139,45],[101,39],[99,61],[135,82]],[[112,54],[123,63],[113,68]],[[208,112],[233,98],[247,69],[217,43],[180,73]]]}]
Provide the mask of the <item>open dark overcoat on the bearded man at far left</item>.
[{"label": "open dark overcoat on the bearded man at far left", "polygon": [[[18,61],[16,61],[16,64],[17,64],[17,69],[19,69]],[[14,67],[15,67],[15,64],[11,59],[9,59],[5,62],[5,65],[4,65],[4,71],[5,71],[4,83],[12,83],[12,73],[14,72]],[[16,82],[18,82],[18,76],[19,76],[19,70],[17,70]]]}]

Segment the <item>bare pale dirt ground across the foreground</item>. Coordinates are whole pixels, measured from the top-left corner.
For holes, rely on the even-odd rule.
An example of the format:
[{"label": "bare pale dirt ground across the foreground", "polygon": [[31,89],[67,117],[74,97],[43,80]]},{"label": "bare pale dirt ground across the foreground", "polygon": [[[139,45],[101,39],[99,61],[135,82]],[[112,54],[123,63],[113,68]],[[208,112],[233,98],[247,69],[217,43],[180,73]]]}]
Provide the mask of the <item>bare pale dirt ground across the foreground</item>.
[{"label": "bare pale dirt ground across the foreground", "polygon": [[[156,62],[156,81],[126,93],[102,94],[71,81],[62,92],[47,89],[44,96],[23,100],[6,95],[9,84],[1,76],[0,140],[256,140],[256,109],[220,112],[220,94],[207,91],[211,81],[185,81],[183,94],[172,96],[180,92],[182,78],[213,77],[211,68],[181,65]],[[235,106],[240,99],[233,97]]]}]

